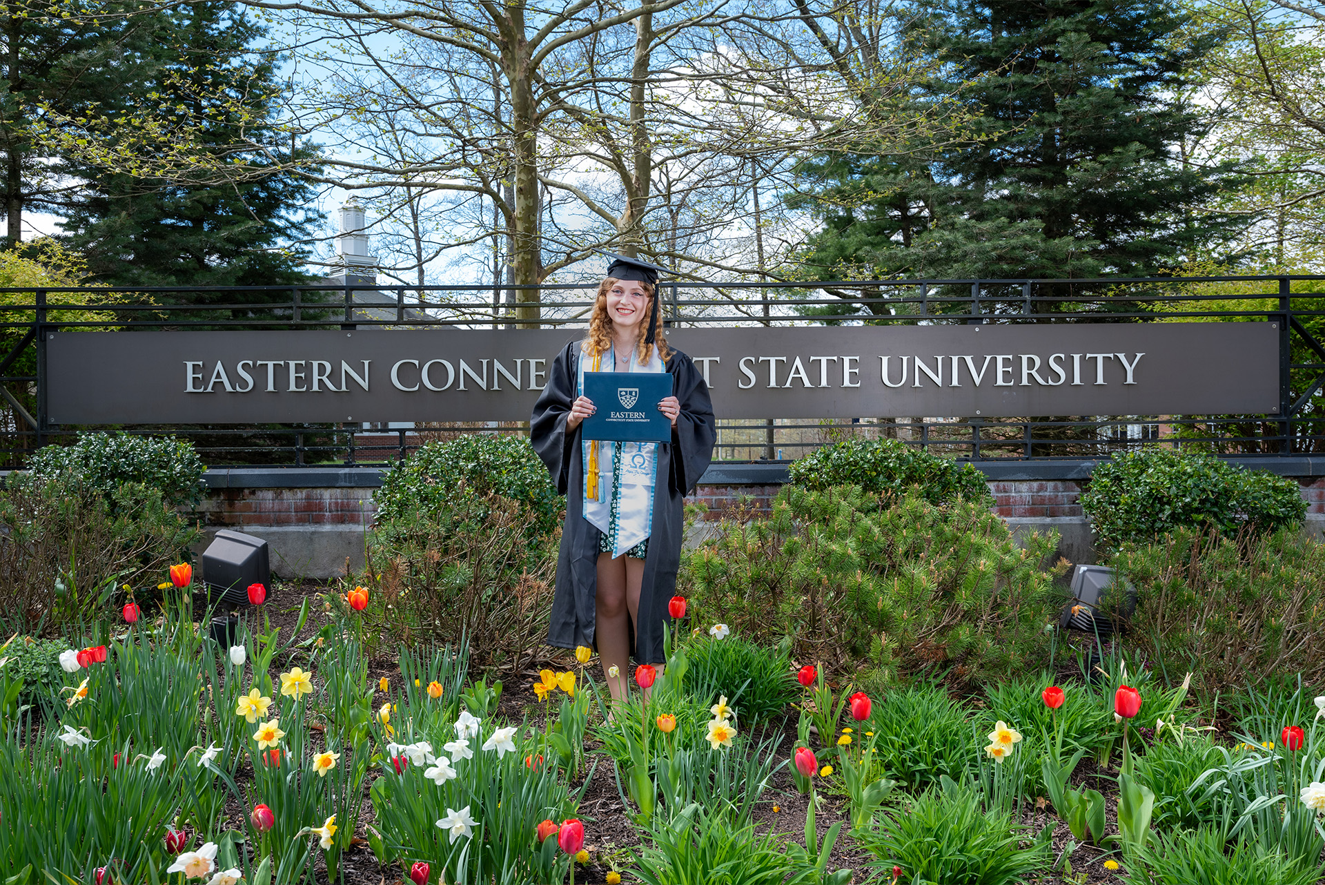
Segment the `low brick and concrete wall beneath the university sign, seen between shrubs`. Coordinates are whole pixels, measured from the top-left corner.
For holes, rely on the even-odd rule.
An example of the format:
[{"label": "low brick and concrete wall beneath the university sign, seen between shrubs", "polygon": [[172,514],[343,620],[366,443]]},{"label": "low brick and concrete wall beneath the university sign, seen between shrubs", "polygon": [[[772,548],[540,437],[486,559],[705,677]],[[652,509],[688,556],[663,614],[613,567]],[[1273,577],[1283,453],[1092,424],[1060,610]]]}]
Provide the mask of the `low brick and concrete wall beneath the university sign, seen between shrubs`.
[{"label": "low brick and concrete wall beneath the university sign, seen between shrubs", "polygon": [[[363,566],[363,542],[372,526],[375,476],[331,473],[326,485],[303,480],[285,488],[254,488],[241,470],[213,481],[211,493],[193,517],[204,529],[205,548],[217,529],[233,529],[265,538],[272,546],[272,567],[278,575],[334,578]],[[248,485],[252,482],[252,485]],[[1093,562],[1093,538],[1079,502],[1088,480],[994,480],[994,513],[1003,517],[1014,534],[1055,530],[1060,554],[1072,562]],[[1325,534],[1325,478],[1300,478],[1308,502],[1306,531]],[[277,485],[277,484],[270,484]],[[284,484],[282,484],[284,485]],[[701,523],[714,523],[733,515],[743,505],[747,513],[766,514],[780,485],[714,484],[701,485],[689,501],[708,507]],[[712,525],[696,530],[696,539],[712,531]],[[693,539],[692,539],[693,541]]]}]

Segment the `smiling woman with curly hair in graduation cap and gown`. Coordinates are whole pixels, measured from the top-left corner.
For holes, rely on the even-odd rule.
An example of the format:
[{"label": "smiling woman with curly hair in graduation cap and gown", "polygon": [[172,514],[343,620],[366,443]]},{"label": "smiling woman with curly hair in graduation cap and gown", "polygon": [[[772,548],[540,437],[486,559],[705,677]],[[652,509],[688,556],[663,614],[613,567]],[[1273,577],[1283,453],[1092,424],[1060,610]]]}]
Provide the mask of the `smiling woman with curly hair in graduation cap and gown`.
[{"label": "smiling woman with curly hair in graduation cap and gown", "polygon": [[[668,600],[676,591],[681,498],[713,457],[709,388],[689,356],[657,335],[662,268],[613,256],[598,287],[588,335],[553,360],[534,405],[530,440],[566,495],[556,560],[551,645],[598,648],[608,692],[628,693],[629,657],[664,664]],[[666,372],[673,395],[656,408],[672,421],[670,443],[582,439],[595,412],[584,372]],[[612,666],[616,677],[608,677]]]}]

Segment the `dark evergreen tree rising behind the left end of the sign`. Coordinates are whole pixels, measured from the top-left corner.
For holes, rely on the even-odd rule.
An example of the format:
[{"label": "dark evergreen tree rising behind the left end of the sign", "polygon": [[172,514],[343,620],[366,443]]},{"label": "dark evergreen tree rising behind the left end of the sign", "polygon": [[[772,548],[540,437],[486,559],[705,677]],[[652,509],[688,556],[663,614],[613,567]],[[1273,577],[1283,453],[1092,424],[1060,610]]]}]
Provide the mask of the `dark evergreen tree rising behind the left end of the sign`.
[{"label": "dark evergreen tree rising behind the left end of the sign", "polygon": [[[253,45],[265,29],[228,3],[170,11],[170,41],[136,90],[156,114],[189,125],[191,147],[232,159],[236,144],[265,143],[244,158],[248,175],[228,184],[142,178],[131,168],[91,167],[86,195],[64,221],[91,276],[111,285],[258,286],[309,282],[297,244],[321,213],[314,187],[286,171],[315,155],[274,144],[281,83],[272,56]],[[91,115],[97,109],[87,109]],[[110,118],[132,126],[134,111]],[[264,174],[264,170],[269,174]],[[288,293],[273,295],[289,299]],[[192,294],[207,303],[229,295]]]}]

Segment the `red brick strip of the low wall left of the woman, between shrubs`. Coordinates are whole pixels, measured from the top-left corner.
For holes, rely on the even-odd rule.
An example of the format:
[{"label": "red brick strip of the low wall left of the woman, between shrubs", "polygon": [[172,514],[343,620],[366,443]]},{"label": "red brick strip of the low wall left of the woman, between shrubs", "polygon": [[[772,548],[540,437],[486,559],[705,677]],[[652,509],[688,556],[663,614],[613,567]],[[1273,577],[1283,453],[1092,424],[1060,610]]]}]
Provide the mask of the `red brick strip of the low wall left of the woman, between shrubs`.
[{"label": "red brick strip of the low wall left of the woman, between shrubs", "polygon": [[196,514],[205,529],[366,526],[372,489],[213,489]]}]

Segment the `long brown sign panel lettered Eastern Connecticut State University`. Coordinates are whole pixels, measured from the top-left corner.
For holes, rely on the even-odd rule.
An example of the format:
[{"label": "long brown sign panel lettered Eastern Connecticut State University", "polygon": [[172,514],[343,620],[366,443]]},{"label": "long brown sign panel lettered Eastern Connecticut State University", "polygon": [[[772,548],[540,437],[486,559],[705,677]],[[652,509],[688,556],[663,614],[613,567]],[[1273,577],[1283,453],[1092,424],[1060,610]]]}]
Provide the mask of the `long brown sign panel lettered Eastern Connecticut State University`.
[{"label": "long brown sign panel lettered Eastern Connecticut State University", "polygon": [[[57,424],[511,421],[579,330],[62,331]],[[719,417],[1272,413],[1275,323],[678,329]]]}]

